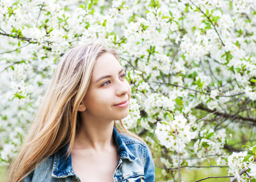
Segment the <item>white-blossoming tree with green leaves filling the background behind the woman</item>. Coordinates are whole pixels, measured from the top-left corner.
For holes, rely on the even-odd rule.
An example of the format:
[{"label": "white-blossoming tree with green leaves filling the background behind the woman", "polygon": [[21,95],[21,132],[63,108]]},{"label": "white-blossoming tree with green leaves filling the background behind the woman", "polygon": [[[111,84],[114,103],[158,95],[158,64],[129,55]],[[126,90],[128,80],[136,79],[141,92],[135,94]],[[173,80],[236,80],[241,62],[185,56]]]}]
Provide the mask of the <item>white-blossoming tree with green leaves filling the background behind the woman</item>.
[{"label": "white-blossoming tree with green leaves filling the background behind the woman", "polygon": [[0,38],[2,166],[65,50],[93,41],[115,47],[127,69],[124,123],[151,147],[157,181],[188,181],[187,167],[255,181],[254,0],[1,0]]}]

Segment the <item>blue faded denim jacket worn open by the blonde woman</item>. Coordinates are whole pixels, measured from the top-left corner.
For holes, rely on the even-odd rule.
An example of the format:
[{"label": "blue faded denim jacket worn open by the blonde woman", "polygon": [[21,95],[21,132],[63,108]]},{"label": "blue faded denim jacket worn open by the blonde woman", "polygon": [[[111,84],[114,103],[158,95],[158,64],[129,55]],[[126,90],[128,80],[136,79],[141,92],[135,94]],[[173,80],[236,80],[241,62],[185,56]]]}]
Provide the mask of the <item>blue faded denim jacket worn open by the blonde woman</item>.
[{"label": "blue faded denim jacket worn open by the blonde woman", "polygon": [[[148,146],[132,136],[118,133],[113,129],[113,137],[118,147],[118,164],[113,175],[113,180],[121,181],[146,181],[155,180],[154,161]],[[24,182],[39,181],[80,181],[71,165],[71,155],[66,158],[68,145],[60,149],[51,157],[43,161],[28,175]]]}]

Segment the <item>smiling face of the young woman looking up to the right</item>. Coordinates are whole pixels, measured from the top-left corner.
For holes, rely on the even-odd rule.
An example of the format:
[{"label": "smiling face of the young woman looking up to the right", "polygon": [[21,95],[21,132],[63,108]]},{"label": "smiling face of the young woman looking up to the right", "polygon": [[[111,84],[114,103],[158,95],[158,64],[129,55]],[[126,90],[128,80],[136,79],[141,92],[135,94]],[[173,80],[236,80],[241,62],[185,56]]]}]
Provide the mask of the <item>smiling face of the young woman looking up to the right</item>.
[{"label": "smiling face of the young woman looking up to the right", "polygon": [[125,118],[129,113],[131,89],[124,77],[124,68],[112,54],[100,56],[83,99],[85,116],[110,121]]}]

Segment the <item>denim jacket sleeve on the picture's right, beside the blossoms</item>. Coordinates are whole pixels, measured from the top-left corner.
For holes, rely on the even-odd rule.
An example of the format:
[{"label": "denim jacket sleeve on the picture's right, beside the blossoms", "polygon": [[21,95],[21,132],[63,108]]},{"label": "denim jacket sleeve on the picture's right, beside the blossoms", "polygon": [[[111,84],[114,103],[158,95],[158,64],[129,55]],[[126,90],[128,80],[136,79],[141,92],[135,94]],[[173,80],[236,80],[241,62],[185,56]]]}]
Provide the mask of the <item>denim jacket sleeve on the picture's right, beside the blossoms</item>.
[{"label": "denim jacket sleeve on the picture's right, beside the blossoms", "polygon": [[146,146],[145,154],[144,176],[146,182],[152,182],[155,181],[155,164],[148,146]]}]

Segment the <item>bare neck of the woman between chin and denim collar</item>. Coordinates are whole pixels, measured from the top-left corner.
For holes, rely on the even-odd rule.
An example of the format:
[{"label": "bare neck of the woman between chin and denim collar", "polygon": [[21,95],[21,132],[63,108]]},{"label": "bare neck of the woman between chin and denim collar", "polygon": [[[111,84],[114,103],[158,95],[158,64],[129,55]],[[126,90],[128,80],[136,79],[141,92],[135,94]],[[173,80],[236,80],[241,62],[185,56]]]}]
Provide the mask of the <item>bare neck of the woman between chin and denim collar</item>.
[{"label": "bare neck of the woman between chin and denim collar", "polygon": [[81,115],[80,127],[75,139],[76,149],[108,150],[115,145],[114,121],[99,121]]}]

